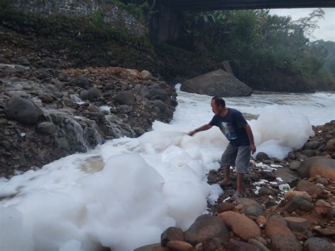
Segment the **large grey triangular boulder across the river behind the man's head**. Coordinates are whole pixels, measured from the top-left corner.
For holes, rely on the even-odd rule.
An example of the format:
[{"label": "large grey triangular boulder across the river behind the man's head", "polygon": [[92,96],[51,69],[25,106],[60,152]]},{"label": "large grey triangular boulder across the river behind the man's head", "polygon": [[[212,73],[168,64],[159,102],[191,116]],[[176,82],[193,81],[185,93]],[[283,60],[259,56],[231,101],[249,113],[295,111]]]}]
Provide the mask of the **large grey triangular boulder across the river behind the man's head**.
[{"label": "large grey triangular boulder across the river behind the man's head", "polygon": [[180,90],[211,96],[220,95],[221,97],[240,97],[252,94],[252,88],[222,69],[188,79],[182,83]]}]

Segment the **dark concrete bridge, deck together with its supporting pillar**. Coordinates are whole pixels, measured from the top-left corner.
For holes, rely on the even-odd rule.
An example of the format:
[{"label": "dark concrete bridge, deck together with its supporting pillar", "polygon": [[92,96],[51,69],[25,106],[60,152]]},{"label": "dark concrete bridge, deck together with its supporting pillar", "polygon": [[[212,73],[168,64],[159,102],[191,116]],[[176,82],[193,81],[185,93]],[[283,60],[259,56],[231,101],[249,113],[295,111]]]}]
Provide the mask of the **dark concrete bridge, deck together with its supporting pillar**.
[{"label": "dark concrete bridge, deck together with its supporting pillar", "polygon": [[158,0],[158,13],[151,21],[151,36],[160,41],[176,40],[184,11],[322,7],[334,8],[335,0]]}]

